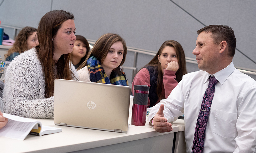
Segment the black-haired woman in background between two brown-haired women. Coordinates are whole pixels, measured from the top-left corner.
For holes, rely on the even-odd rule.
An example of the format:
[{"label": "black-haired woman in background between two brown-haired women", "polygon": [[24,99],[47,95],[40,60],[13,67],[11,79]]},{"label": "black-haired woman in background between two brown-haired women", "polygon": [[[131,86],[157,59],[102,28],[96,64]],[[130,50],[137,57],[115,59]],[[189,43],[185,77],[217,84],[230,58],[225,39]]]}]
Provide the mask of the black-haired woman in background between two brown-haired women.
[{"label": "black-haired woman in background between two brown-haired women", "polygon": [[85,37],[76,35],[77,39],[72,51],[72,64],[77,69],[86,59],[90,46]]}]

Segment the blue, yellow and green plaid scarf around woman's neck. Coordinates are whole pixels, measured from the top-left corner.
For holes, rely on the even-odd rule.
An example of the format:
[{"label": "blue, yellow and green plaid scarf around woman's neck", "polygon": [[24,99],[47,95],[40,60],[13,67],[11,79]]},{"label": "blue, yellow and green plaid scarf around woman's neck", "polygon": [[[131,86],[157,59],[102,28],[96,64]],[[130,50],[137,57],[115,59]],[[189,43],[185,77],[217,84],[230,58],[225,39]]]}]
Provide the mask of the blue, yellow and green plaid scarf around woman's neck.
[{"label": "blue, yellow and green plaid scarf around woman's neck", "polygon": [[105,73],[100,61],[92,56],[87,60],[87,68],[90,73],[91,82],[115,84],[115,85],[128,85],[128,80],[125,78],[125,73],[121,76],[118,75],[117,69],[114,69],[110,74],[110,80]]}]

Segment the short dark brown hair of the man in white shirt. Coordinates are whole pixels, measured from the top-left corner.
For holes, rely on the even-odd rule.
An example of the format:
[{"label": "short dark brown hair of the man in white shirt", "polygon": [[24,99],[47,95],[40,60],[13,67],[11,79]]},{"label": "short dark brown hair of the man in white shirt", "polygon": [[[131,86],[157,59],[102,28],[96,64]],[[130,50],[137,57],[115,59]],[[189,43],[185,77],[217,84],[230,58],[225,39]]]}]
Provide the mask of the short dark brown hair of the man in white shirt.
[{"label": "short dark brown hair of the man in white shirt", "polygon": [[201,32],[211,32],[214,43],[218,45],[222,41],[227,42],[229,55],[234,56],[236,52],[236,37],[234,31],[227,25],[208,25],[197,31],[197,34]]}]

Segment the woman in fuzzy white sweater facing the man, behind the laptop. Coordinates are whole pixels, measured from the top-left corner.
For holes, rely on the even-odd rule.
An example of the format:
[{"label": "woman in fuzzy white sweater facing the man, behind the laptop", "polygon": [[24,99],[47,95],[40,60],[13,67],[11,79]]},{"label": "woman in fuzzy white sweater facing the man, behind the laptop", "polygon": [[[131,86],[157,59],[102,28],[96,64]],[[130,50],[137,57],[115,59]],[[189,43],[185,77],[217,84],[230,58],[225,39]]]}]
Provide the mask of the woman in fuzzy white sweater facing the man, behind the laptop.
[{"label": "woman in fuzzy white sweater facing the man, behind the laptop", "polygon": [[20,54],[5,75],[4,112],[26,118],[54,115],[54,80],[77,80],[71,64],[76,40],[74,16],[59,10],[46,13],[38,25],[39,45]]}]

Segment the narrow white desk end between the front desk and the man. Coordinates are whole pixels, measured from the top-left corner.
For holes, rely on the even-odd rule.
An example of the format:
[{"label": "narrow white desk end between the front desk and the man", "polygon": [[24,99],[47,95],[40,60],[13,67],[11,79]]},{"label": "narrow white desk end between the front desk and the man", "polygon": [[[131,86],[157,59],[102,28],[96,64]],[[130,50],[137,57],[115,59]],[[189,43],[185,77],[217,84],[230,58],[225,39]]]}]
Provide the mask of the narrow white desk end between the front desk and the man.
[{"label": "narrow white desk end between the front desk and the man", "polygon": [[179,131],[176,133],[176,139],[175,139],[175,147],[174,147],[174,153],[186,153],[187,147],[185,142],[185,124],[184,120],[177,119],[175,122],[172,123],[174,126],[179,127]]}]

